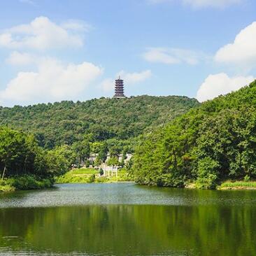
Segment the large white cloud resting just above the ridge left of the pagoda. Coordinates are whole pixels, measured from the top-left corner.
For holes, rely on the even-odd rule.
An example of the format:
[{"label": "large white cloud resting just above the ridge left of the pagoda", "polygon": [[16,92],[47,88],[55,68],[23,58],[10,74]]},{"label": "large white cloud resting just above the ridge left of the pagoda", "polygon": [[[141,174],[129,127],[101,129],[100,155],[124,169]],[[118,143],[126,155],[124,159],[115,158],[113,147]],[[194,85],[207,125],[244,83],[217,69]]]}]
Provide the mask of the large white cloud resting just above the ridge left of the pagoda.
[{"label": "large white cloud resting just above the ridge left of the pagoda", "polygon": [[20,72],[10,80],[0,99],[17,104],[74,99],[101,73],[99,66],[89,62],[64,65],[56,59],[41,59],[38,71]]}]

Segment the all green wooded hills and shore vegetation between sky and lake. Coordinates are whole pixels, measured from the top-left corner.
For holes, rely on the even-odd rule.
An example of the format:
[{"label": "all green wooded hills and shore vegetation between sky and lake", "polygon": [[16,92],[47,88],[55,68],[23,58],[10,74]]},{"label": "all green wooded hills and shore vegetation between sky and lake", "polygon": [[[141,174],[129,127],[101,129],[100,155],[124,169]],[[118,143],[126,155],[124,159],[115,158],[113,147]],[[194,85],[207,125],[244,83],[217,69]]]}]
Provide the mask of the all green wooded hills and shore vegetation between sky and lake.
[{"label": "all green wooded hills and shore vegetation between sky and lake", "polygon": [[[13,183],[16,189],[47,187],[45,180],[52,184],[54,178],[93,183],[133,176],[139,184],[203,189],[215,189],[225,180],[255,180],[255,106],[256,82],[201,105],[186,97],[143,96],[1,108],[1,123],[10,120],[10,127],[19,129],[0,128],[2,180],[26,177]],[[72,164],[124,166],[124,156],[134,148],[126,164],[129,175],[69,171]],[[89,160],[92,152],[94,162]]]}]

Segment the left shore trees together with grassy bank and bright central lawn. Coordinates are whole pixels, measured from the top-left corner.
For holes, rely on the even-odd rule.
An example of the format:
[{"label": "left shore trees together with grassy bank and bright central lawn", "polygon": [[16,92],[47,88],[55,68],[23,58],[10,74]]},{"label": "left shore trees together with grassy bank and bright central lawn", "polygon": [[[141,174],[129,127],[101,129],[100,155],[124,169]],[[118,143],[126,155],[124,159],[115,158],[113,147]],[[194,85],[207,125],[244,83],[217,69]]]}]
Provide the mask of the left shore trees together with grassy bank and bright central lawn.
[{"label": "left shore trees together with grassy bank and bright central lawn", "polygon": [[[124,151],[125,153],[126,151]],[[106,162],[108,148],[99,147],[98,164]],[[108,162],[118,161],[118,152],[110,152]],[[76,163],[84,162],[90,156],[90,145],[84,141],[74,145],[57,146],[47,150],[38,145],[33,134],[0,127],[0,191],[34,190],[52,187],[55,183],[94,183],[129,180],[127,171],[120,171],[118,177],[99,175],[95,169],[71,169]],[[123,161],[125,158],[123,159]],[[94,164],[94,163],[89,163]],[[125,169],[124,169],[125,170]]]}]

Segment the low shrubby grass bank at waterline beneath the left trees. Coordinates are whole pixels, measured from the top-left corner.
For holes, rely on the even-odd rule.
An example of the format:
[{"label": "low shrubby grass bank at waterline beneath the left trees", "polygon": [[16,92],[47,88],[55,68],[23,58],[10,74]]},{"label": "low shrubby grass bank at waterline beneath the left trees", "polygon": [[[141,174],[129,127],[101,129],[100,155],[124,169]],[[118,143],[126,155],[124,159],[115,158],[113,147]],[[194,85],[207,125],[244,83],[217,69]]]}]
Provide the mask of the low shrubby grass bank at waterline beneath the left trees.
[{"label": "low shrubby grass bank at waterline beneath the left trees", "polygon": [[54,181],[49,178],[36,178],[35,176],[19,176],[5,178],[0,181],[0,192],[12,192],[15,190],[40,190],[52,187]]}]

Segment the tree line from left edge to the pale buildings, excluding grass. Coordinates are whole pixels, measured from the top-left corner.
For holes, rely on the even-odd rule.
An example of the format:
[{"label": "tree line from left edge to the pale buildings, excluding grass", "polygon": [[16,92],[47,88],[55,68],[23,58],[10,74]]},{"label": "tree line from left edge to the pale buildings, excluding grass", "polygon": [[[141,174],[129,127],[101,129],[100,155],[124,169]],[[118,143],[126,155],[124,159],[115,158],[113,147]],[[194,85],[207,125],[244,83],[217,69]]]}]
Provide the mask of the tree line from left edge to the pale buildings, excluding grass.
[{"label": "tree line from left edge to the pale buildings, excluding grass", "polygon": [[[89,162],[90,152],[94,147],[97,152],[95,162]],[[53,179],[71,169],[72,164],[100,166],[106,162],[108,152],[111,158],[108,164],[119,163],[120,149],[108,149],[107,143],[98,143],[97,147],[90,141],[83,140],[73,145],[60,145],[53,149],[42,148],[33,134],[17,131],[8,127],[0,127],[0,173],[4,178],[34,176],[36,179]],[[129,148],[122,151],[125,156]],[[123,164],[124,165],[124,164]]]}]

